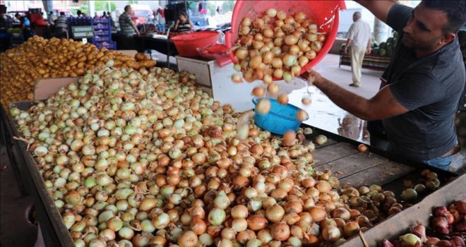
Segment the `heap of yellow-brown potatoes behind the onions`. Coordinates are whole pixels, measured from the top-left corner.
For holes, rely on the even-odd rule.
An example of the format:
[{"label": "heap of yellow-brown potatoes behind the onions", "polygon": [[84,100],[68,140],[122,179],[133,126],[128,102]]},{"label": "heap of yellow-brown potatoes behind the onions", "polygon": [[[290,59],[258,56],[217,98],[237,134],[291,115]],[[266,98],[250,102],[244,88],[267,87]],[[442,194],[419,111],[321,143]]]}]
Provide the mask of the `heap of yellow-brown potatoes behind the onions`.
[{"label": "heap of yellow-brown potatoes behind the onions", "polygon": [[102,67],[109,60],[117,68],[155,66],[145,54],[132,57],[104,47],[97,49],[90,43],[32,37],[0,54],[0,102],[8,109],[11,102],[34,100],[35,80],[83,76],[88,69]]}]

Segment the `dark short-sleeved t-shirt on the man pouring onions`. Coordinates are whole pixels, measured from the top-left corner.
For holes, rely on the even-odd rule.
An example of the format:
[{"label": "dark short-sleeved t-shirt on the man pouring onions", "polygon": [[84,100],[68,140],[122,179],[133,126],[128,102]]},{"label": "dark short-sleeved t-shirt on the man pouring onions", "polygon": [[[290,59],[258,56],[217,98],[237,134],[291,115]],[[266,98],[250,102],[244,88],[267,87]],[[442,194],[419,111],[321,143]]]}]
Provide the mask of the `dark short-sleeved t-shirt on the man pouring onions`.
[{"label": "dark short-sleeved t-shirt on the man pouring onions", "polygon": [[382,78],[410,111],[383,119],[383,125],[395,154],[423,161],[441,157],[457,145],[453,119],[466,76],[458,38],[434,54],[414,58],[413,49],[402,44],[402,28],[411,14],[412,8],[395,4],[387,16],[387,24],[400,36]]}]

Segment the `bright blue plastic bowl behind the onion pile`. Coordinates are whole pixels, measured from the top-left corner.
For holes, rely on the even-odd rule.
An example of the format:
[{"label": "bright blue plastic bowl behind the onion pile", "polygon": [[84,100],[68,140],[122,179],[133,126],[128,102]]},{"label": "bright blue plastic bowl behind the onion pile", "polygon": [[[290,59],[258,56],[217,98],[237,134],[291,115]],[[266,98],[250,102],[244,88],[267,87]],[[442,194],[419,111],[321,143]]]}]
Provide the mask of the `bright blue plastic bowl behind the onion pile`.
[{"label": "bright blue plastic bowl behind the onion pile", "polygon": [[[253,103],[256,105],[262,98],[253,98]],[[272,133],[283,135],[287,131],[297,131],[301,121],[296,118],[299,107],[292,104],[280,104],[277,100],[267,98],[270,100],[270,112],[268,114],[260,114],[257,109],[254,109],[254,122],[257,126],[270,131]],[[309,119],[309,116],[305,120]]]}]

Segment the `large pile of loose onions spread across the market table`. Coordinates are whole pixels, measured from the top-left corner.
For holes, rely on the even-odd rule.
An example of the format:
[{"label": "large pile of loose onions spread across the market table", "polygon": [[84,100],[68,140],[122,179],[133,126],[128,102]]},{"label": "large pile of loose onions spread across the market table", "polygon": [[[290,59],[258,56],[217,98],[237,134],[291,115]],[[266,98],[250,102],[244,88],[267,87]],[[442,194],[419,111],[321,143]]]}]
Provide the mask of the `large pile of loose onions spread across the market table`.
[{"label": "large pile of loose onions spread across the market table", "polygon": [[239,114],[194,80],[106,67],[11,109],[76,246],[341,243],[401,210],[380,186],[314,171],[311,129],[250,124],[241,140]]}]

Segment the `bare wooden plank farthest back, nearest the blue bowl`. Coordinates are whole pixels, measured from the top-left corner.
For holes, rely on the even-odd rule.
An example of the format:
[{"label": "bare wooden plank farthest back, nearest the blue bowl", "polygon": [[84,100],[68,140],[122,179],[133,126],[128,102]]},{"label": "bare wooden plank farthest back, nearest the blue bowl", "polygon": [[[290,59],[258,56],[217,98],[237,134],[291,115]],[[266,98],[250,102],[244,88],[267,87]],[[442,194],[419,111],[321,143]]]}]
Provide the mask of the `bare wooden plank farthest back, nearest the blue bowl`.
[{"label": "bare wooden plank farthest back, nearest the blue bowl", "polygon": [[335,143],[333,145],[318,148],[316,149],[316,152],[312,154],[314,160],[316,160],[314,167],[341,159],[342,157],[347,157],[348,155],[353,155],[356,152],[358,152],[357,149],[348,143]]}]

